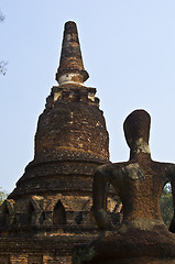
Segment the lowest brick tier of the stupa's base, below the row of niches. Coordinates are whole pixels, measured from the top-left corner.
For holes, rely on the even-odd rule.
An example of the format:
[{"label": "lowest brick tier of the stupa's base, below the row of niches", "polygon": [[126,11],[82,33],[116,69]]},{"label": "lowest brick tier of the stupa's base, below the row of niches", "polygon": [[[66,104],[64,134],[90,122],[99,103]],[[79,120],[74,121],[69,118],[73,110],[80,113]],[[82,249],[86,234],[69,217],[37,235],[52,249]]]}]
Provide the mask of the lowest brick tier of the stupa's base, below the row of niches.
[{"label": "lowest brick tier of the stupa's base, below the row of niches", "polygon": [[[45,229],[47,230],[47,229]],[[50,230],[51,231],[51,230]],[[53,237],[43,238],[4,238],[0,239],[1,264],[70,264],[74,248],[97,238],[97,231],[89,230],[52,230]],[[32,230],[31,230],[32,232]]]}]

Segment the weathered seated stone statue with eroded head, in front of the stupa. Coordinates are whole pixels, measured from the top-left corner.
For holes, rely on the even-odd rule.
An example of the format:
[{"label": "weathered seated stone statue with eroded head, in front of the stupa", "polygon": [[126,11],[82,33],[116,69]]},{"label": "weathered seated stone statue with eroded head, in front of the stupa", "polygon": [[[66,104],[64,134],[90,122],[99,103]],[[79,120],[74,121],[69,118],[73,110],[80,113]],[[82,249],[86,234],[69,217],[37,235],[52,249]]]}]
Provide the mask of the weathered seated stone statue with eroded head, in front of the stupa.
[{"label": "weathered seated stone statue with eroded head, in front of the stupa", "polygon": [[[150,114],[144,110],[129,114],[124,121],[129,162],[107,163],[95,174],[95,217],[101,229],[110,227],[111,231],[103,232],[89,245],[87,252],[91,260],[83,263],[175,264],[175,216],[168,231],[160,210],[162,188],[167,182],[172,184],[175,201],[175,164],[152,161],[150,122]],[[117,229],[106,212],[108,184],[114,187],[123,204],[123,220]]]}]

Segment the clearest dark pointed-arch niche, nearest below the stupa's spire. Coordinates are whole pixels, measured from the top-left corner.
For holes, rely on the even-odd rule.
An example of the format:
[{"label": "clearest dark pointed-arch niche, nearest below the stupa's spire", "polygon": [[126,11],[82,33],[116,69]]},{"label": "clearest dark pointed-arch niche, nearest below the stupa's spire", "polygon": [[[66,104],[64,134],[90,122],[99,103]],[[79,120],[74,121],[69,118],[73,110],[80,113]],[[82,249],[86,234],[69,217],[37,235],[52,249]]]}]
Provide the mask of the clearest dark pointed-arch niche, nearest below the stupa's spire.
[{"label": "clearest dark pointed-arch niche, nearest below the stupa's spire", "polygon": [[61,200],[54,207],[53,224],[66,224],[66,211]]}]

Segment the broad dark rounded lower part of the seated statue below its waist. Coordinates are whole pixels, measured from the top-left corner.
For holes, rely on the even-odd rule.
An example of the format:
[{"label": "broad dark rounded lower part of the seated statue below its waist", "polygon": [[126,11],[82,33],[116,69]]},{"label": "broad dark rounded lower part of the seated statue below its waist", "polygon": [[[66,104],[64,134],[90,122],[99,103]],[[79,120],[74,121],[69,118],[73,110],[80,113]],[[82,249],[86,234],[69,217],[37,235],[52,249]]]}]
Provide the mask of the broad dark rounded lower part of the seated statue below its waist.
[{"label": "broad dark rounded lower part of the seated statue below its waist", "polygon": [[87,260],[81,261],[84,264],[174,264],[175,234],[164,224],[151,230],[120,228],[100,234],[87,246],[86,255]]}]

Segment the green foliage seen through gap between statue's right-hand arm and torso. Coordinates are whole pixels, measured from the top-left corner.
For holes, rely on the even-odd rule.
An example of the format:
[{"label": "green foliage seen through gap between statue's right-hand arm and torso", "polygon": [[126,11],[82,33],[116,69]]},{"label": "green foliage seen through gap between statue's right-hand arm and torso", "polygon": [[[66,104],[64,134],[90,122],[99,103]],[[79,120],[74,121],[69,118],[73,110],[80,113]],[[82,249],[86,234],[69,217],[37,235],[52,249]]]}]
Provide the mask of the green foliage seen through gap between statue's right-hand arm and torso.
[{"label": "green foliage seen through gap between statue's right-hand arm and torso", "polygon": [[173,219],[173,197],[172,197],[172,189],[169,184],[165,185],[162,196],[161,196],[161,212],[164,223],[167,228],[169,228],[171,221]]}]

